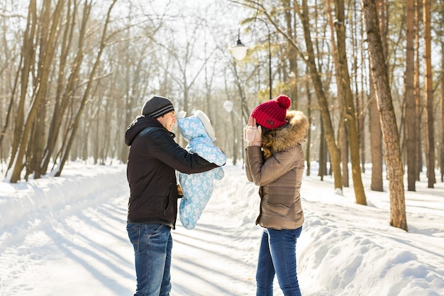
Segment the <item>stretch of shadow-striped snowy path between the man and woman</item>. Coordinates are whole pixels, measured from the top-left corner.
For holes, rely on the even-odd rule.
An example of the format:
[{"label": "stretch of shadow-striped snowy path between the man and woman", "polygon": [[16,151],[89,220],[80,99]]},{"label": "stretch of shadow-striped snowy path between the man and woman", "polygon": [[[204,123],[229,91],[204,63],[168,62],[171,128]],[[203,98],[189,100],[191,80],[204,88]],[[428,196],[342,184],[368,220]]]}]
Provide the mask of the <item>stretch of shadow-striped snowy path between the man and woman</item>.
[{"label": "stretch of shadow-striped snowy path between the man and woman", "polygon": [[262,232],[246,211],[248,190],[255,188],[227,187],[238,184],[236,177],[226,170],[224,182],[214,183],[213,197],[196,228],[184,229],[178,219],[172,234],[172,296],[255,295],[257,243]]}]

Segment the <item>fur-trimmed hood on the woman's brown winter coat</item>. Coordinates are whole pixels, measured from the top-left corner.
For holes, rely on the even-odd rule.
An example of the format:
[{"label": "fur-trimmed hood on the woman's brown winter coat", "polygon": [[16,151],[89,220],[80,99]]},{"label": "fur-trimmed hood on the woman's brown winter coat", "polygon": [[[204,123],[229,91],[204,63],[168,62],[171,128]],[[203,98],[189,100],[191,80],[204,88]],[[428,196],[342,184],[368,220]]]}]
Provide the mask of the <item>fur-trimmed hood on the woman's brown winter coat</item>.
[{"label": "fur-trimmed hood on the woman's brown winter coat", "polygon": [[274,153],[304,143],[307,138],[310,123],[302,111],[289,110],[285,119],[288,123],[274,131],[272,142]]}]

